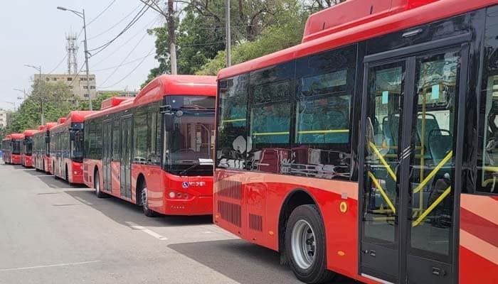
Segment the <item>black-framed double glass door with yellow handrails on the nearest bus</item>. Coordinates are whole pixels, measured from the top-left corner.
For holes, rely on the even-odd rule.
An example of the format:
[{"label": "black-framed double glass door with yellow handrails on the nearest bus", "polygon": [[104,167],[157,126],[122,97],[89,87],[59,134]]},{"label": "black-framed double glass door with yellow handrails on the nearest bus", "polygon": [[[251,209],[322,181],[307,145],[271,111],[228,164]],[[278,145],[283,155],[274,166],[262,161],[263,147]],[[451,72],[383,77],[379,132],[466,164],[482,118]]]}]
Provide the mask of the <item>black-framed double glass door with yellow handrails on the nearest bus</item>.
[{"label": "black-framed double glass door with yellow handrails on the nearest bus", "polygon": [[361,275],[386,283],[457,278],[455,168],[470,37],[461,38],[364,59]]}]

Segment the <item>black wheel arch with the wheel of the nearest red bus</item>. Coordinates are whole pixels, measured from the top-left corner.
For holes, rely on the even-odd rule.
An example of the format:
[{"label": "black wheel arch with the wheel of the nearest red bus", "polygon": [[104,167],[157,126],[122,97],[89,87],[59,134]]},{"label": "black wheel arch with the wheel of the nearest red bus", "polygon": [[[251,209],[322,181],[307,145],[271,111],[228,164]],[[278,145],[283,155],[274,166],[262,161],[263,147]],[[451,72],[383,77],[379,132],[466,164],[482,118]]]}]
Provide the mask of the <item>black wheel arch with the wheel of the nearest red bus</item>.
[{"label": "black wheel arch with the wheel of the nearest red bus", "polygon": [[[281,263],[289,264],[297,278],[305,283],[324,283],[331,280],[334,273],[327,271],[327,238],[323,214],[312,195],[302,189],[290,192],[280,209],[278,224]],[[307,260],[307,266],[303,267],[305,257],[300,256],[305,253],[296,249],[302,246],[296,246],[294,240],[296,234],[306,234],[305,231],[311,232],[309,235],[312,239],[312,251],[316,253],[311,260]],[[297,239],[302,240],[302,237]]]}]

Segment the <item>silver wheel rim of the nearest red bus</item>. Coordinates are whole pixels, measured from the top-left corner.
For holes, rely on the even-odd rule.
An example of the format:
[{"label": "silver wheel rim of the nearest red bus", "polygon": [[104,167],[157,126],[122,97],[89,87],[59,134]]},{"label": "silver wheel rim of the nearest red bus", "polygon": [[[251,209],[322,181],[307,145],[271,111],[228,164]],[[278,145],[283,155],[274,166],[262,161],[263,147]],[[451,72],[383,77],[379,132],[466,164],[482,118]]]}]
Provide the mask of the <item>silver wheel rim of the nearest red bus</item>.
[{"label": "silver wheel rim of the nearest red bus", "polygon": [[292,256],[302,269],[307,269],[314,263],[315,237],[312,226],[304,220],[296,222],[292,228]]}]

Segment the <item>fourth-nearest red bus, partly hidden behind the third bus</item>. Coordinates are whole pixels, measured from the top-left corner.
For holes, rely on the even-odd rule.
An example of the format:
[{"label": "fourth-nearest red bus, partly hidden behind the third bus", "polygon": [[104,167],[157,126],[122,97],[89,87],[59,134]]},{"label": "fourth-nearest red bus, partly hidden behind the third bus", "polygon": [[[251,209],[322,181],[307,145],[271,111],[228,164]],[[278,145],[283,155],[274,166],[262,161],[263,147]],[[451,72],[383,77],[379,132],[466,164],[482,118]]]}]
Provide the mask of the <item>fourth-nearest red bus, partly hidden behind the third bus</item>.
[{"label": "fourth-nearest red bus, partly hidden behind the third bus", "polygon": [[51,172],[50,131],[56,125],[56,122],[48,122],[43,126],[39,126],[38,131],[33,134],[33,156],[36,170],[46,173]]}]

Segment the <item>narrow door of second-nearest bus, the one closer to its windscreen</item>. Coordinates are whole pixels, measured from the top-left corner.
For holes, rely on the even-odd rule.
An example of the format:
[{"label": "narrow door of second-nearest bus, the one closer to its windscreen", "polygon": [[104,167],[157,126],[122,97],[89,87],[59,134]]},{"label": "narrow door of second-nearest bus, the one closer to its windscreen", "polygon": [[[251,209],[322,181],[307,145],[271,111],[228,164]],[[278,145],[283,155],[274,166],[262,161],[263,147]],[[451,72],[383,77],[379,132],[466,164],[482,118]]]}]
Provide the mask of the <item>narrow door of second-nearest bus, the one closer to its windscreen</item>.
[{"label": "narrow door of second-nearest bus, the one closer to its windscreen", "polygon": [[132,198],[132,116],[121,123],[121,196]]}]

